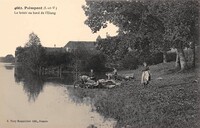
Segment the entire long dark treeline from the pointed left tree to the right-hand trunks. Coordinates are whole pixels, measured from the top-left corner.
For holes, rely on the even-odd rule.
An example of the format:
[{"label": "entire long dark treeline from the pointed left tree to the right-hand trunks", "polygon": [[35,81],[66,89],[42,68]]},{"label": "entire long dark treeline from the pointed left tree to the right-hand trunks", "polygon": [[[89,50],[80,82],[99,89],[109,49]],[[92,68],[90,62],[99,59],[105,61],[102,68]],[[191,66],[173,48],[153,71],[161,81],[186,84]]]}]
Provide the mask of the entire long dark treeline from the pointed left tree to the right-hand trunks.
[{"label": "entire long dark treeline from the pointed left tree to the right-hand trunks", "polygon": [[[105,43],[105,41],[103,41]],[[97,41],[98,47],[102,42]],[[115,42],[116,43],[116,42]],[[108,45],[109,46],[109,45]],[[113,45],[114,46],[114,45]],[[118,48],[120,49],[120,48]],[[16,62],[31,72],[39,73],[42,68],[61,67],[63,71],[89,72],[93,69],[95,72],[111,71],[116,67],[119,69],[136,69],[141,64],[145,56],[141,56],[137,51],[127,51],[124,57],[115,58],[115,50],[99,50],[91,52],[84,48],[79,48],[73,52],[49,51],[40,43],[39,37],[31,33],[29,41],[24,47],[17,47],[15,51]],[[113,58],[112,58],[113,57]],[[176,54],[167,55],[168,61],[175,61]],[[115,60],[115,65],[113,65]],[[151,54],[146,61],[149,64],[158,64],[163,61],[163,53]]]}]

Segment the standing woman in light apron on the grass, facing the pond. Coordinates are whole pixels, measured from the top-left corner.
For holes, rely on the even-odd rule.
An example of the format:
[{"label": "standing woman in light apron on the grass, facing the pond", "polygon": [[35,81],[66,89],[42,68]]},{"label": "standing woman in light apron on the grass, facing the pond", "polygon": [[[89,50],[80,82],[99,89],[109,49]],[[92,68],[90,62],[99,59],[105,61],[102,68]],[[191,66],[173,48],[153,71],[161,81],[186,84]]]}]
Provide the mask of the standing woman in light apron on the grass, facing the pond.
[{"label": "standing woman in light apron on the grass, facing the pond", "polygon": [[141,83],[144,85],[149,84],[149,81],[151,80],[151,75],[150,75],[150,70],[149,66],[147,65],[146,62],[143,63],[144,67],[142,69],[142,78],[141,78]]}]

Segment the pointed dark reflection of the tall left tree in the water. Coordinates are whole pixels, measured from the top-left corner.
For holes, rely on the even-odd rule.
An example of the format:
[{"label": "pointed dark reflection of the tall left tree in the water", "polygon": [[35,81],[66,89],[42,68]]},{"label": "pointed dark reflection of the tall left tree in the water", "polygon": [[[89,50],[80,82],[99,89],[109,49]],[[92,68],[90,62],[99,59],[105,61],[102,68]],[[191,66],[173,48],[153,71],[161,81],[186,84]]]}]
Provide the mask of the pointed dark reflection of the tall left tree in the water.
[{"label": "pointed dark reflection of the tall left tree in the water", "polygon": [[44,79],[21,66],[15,67],[15,81],[22,83],[29,102],[35,102],[40,92],[43,91]]}]

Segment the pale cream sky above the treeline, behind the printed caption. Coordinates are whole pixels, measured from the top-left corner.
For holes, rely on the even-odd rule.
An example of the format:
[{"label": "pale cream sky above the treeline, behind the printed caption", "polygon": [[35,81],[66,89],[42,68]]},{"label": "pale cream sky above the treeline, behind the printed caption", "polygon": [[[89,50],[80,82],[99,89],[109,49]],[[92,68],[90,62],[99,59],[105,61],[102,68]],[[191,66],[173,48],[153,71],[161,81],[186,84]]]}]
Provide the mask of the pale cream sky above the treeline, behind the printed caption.
[{"label": "pale cream sky above the treeline, behind the printed caption", "polygon": [[[0,0],[0,56],[14,55],[16,47],[23,47],[32,32],[38,35],[44,47],[63,47],[68,41],[94,41],[98,35],[105,37],[107,32],[110,36],[117,34],[118,28],[112,24],[93,34],[84,24],[87,17],[82,5],[85,0]],[[56,15],[19,14],[34,10],[15,10],[25,6],[51,7],[49,11]]]}]

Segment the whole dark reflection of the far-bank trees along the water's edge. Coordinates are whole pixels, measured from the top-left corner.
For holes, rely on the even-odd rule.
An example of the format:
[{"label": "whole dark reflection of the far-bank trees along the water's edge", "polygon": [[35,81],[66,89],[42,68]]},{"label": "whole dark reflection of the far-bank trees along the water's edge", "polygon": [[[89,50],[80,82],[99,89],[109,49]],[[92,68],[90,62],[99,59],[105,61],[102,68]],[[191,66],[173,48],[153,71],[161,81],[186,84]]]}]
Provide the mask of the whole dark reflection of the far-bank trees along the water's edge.
[{"label": "whole dark reflection of the far-bank trees along the water's edge", "polygon": [[40,92],[43,91],[45,82],[53,83],[55,86],[60,84],[73,85],[74,80],[75,74],[72,73],[62,74],[61,76],[39,76],[31,73],[27,68],[15,66],[15,82],[22,83],[29,101],[35,101],[37,99]]}]

